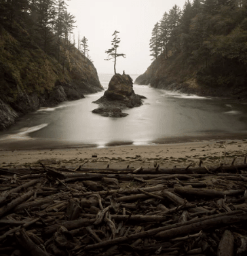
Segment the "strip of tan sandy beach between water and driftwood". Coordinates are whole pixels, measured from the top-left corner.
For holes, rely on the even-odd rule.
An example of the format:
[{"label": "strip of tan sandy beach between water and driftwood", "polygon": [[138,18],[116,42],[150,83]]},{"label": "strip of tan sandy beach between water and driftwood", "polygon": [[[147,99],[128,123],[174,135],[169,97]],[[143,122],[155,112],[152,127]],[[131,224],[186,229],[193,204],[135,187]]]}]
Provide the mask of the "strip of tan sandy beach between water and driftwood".
[{"label": "strip of tan sandy beach between water and driftwood", "polygon": [[187,143],[155,145],[121,145],[115,147],[73,147],[59,149],[29,149],[0,151],[0,167],[40,166],[39,162],[51,166],[79,166],[106,168],[153,167],[157,162],[161,168],[185,167],[199,160],[205,166],[220,163],[243,163],[246,155],[246,139],[209,140]]}]

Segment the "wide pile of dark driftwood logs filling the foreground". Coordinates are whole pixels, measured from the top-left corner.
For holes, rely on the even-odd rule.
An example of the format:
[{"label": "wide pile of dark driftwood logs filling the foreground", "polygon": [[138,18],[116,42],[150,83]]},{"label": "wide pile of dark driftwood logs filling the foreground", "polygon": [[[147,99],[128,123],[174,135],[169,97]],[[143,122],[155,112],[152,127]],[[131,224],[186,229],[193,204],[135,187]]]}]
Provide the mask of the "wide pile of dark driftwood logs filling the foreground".
[{"label": "wide pile of dark driftwood logs filling the foreground", "polygon": [[246,169],[0,168],[0,255],[247,255]]}]

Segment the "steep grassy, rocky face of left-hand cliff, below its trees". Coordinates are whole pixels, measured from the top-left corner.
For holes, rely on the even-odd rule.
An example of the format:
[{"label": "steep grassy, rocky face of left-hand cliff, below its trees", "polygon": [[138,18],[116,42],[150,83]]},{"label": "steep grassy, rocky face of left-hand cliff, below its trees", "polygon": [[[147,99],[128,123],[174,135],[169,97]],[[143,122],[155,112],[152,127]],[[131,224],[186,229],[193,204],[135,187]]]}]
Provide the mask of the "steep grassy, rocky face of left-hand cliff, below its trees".
[{"label": "steep grassy, rocky face of left-hand cliff, below its trees", "polygon": [[0,35],[0,130],[39,107],[103,90],[92,62],[75,47],[58,63],[21,27]]}]

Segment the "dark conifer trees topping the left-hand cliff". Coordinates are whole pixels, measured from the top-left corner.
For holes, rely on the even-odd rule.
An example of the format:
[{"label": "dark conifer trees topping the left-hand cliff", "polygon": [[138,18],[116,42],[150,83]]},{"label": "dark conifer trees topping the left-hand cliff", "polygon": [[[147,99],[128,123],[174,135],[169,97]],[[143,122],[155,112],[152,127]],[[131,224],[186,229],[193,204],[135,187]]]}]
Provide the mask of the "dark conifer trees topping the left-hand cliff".
[{"label": "dark conifer trees topping the left-hand cliff", "polygon": [[75,16],[67,12],[69,0],[0,0],[0,24],[14,33],[22,26],[47,54],[64,63],[73,47]]}]

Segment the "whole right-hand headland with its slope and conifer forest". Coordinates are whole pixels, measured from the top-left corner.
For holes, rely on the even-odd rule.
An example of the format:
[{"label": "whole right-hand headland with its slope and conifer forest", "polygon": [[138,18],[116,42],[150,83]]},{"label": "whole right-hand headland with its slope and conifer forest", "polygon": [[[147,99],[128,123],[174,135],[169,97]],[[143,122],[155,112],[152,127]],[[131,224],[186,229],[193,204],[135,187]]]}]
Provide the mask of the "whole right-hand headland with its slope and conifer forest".
[{"label": "whole right-hand headland with its slope and conifer forest", "polygon": [[155,24],[153,62],[136,84],[210,96],[247,96],[247,1],[193,0]]}]

